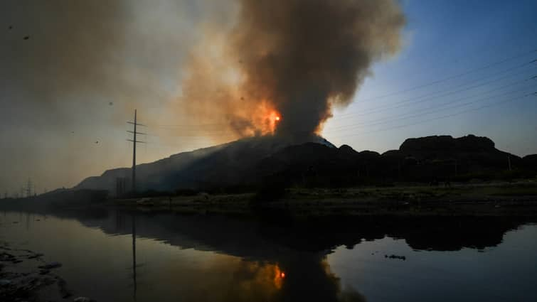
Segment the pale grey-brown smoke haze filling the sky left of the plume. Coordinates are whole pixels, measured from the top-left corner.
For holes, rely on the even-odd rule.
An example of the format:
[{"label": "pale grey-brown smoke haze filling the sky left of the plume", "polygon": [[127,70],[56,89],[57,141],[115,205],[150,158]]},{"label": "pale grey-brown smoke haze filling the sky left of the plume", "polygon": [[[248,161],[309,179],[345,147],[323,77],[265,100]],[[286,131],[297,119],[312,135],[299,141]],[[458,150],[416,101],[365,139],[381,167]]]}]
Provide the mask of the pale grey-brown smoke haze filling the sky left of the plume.
[{"label": "pale grey-brown smoke haze filling the sky left of the plume", "polygon": [[[125,122],[134,108],[148,125],[181,117],[166,104],[180,90],[186,54],[204,22],[229,21],[228,5],[0,1],[0,193],[13,195],[28,178],[42,193],[128,166]],[[180,151],[164,148],[142,148],[139,161]]]}]

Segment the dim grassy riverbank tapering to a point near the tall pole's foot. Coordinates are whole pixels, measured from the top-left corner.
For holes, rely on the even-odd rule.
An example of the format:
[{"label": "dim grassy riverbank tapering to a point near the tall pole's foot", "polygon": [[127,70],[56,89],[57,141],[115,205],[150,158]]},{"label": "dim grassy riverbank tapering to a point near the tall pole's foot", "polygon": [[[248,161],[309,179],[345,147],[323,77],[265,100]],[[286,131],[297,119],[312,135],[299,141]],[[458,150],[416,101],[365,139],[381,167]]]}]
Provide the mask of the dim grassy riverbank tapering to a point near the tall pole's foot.
[{"label": "dim grassy riverbank tapering to a point near the tall pole's foot", "polygon": [[294,216],[526,216],[537,217],[537,183],[400,185],[388,188],[290,188],[281,192],[110,199],[138,210],[248,215],[277,210]]}]

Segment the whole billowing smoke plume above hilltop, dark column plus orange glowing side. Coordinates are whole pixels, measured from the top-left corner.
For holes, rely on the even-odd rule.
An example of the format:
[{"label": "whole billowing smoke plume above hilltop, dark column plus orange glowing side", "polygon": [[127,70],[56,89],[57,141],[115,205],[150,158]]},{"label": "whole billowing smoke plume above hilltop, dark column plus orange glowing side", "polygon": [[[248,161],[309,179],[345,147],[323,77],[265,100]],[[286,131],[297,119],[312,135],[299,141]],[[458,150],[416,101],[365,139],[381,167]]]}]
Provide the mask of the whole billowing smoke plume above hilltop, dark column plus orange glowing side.
[{"label": "whole billowing smoke plume above hilltop, dark column plus orange glowing side", "polygon": [[376,60],[400,48],[395,0],[239,0],[228,31],[191,56],[181,104],[238,136],[302,136],[345,106]]}]

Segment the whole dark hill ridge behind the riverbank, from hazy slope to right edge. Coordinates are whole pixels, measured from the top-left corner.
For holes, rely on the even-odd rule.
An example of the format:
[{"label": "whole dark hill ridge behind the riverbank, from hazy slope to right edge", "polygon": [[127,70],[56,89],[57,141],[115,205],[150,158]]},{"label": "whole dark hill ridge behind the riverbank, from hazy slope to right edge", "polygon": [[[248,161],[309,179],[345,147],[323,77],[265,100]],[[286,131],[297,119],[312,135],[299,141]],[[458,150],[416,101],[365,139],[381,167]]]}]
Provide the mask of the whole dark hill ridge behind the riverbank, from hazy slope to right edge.
[{"label": "whole dark hill ridge behind the riverbank, from hazy slope to right edge", "polygon": [[[511,162],[511,171],[509,171]],[[241,139],[179,153],[137,166],[139,190],[249,190],[278,186],[378,185],[394,181],[492,179],[534,176],[537,157],[520,158],[495,148],[486,137],[427,136],[407,139],[398,150],[379,154],[336,148],[319,136],[290,141],[277,136]],[[117,178],[130,168],[106,171],[76,188],[116,192]]]}]

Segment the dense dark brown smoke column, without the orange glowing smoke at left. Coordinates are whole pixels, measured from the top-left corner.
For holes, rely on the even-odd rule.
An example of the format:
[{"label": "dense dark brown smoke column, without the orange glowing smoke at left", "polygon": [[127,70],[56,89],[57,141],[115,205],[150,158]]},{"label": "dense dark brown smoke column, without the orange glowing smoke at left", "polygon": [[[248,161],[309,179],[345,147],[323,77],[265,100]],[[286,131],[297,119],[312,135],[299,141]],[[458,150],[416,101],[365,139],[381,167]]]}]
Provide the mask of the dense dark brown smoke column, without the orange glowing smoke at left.
[{"label": "dense dark brown smoke column, without the orange glowing smoke at left", "polygon": [[284,117],[277,131],[312,133],[346,104],[371,63],[399,48],[392,0],[242,0],[233,47],[245,86]]}]

